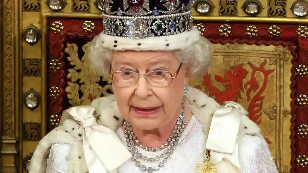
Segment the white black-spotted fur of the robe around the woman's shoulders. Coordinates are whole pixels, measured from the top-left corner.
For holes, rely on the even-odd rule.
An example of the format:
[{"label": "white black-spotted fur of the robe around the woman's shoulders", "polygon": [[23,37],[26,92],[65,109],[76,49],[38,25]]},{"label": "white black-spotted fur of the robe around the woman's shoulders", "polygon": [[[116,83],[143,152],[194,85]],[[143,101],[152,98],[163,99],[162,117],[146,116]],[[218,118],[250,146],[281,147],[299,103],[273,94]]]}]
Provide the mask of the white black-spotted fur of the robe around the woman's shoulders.
[{"label": "white black-spotted fur of the robe around the woman's shoulders", "polygon": [[[188,103],[193,114],[202,124],[203,131],[206,134],[211,124],[212,115],[220,105],[214,99],[191,87],[187,92],[186,103]],[[116,105],[114,95],[95,99],[92,102],[92,106],[95,107],[95,111],[101,116],[98,123],[112,128],[115,131],[123,118]],[[114,116],[117,116],[119,120],[116,120]],[[69,168],[71,170],[68,173],[84,173],[87,170],[84,159],[77,159],[77,156],[83,156],[81,149],[83,136],[80,135],[82,134],[80,124],[73,119],[63,119],[62,122],[62,126],[49,132],[39,142],[31,159],[30,173],[46,172],[49,149],[54,143],[68,143],[72,146],[69,159]],[[241,138],[245,134],[262,137],[257,124],[243,115],[240,122],[238,141],[241,141]],[[80,167],[76,167],[75,165],[80,165]]]}]

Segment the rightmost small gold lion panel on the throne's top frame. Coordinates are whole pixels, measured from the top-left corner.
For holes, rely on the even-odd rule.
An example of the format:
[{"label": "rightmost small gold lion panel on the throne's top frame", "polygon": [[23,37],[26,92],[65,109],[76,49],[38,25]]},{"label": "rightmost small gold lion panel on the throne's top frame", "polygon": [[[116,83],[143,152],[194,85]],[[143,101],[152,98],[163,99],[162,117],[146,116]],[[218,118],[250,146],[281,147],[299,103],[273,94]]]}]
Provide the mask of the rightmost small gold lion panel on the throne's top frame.
[{"label": "rightmost small gold lion panel on the throne's top frame", "polygon": [[286,16],[286,0],[269,0],[268,16]]}]

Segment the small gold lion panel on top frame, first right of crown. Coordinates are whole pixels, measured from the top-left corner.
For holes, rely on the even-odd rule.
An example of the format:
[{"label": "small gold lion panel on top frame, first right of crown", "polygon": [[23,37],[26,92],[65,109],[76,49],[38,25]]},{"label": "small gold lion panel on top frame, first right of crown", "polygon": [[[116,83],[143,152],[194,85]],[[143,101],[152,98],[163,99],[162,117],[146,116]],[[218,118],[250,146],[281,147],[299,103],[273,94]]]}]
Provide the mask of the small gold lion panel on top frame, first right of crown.
[{"label": "small gold lion panel on top frame, first right of crown", "polygon": [[236,16],[237,15],[237,1],[236,0],[220,0],[221,16]]}]

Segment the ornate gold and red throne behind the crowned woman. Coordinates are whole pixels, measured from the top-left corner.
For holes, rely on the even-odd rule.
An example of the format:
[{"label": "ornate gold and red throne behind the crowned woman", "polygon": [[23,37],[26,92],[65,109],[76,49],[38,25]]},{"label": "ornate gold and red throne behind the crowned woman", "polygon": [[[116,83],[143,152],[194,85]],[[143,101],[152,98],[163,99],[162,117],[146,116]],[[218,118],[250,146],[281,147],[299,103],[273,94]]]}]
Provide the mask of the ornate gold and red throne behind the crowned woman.
[{"label": "ornate gold and red throne behind the crowned woman", "polygon": [[[87,54],[102,31],[102,6],[94,0],[2,5],[2,171],[26,172],[38,141],[58,126],[63,110],[112,94],[112,81],[91,72]],[[281,173],[308,171],[307,8],[302,0],[194,3],[195,27],[213,43],[214,56],[190,86],[219,103],[243,105]]]}]

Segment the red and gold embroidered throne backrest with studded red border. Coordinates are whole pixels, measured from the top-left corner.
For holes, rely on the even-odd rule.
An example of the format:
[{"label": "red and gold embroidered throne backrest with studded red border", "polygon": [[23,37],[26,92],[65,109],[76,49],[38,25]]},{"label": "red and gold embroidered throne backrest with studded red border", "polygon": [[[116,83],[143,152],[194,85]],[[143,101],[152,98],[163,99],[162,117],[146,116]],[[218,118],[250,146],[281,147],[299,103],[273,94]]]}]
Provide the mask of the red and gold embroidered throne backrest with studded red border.
[{"label": "red and gold embroidered throne backrest with studded red border", "polygon": [[[308,141],[305,133],[298,132],[307,124],[303,65],[308,44],[299,38],[307,35],[297,34],[298,25],[199,23],[197,27],[213,43],[214,56],[209,72],[192,79],[191,86],[219,103],[241,103],[261,128],[279,171],[307,172],[301,163],[308,155]],[[48,131],[58,125],[63,110],[112,93],[111,81],[91,72],[87,55],[89,42],[101,30],[97,19],[48,19]]]}]

